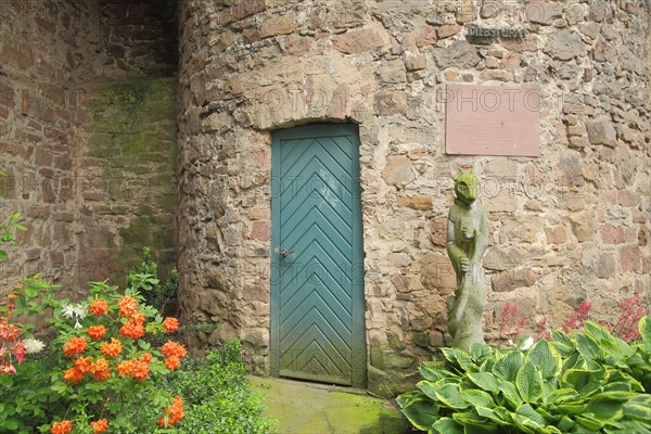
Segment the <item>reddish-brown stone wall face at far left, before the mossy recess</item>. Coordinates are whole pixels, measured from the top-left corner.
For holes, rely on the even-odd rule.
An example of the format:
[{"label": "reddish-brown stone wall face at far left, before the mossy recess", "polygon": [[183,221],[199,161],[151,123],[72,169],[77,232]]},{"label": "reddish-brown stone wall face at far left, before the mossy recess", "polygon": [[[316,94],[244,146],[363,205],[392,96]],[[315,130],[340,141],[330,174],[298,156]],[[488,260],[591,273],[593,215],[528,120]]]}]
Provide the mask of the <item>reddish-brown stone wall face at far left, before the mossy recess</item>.
[{"label": "reddish-brown stone wall face at far left, before the mossy recess", "polygon": [[78,270],[79,78],[93,74],[97,12],[90,2],[0,1],[0,214],[21,212],[29,228],[0,264],[3,288],[36,272],[69,286]]}]

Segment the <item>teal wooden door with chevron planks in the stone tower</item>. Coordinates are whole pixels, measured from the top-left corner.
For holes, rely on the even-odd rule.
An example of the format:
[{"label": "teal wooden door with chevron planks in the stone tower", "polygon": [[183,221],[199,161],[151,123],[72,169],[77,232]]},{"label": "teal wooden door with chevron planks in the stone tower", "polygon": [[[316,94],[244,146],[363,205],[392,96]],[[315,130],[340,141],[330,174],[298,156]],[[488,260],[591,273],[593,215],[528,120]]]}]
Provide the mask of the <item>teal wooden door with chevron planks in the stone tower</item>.
[{"label": "teal wooden door with chevron planks in the stone tower", "polygon": [[272,372],[365,386],[357,126],[276,131],[271,152]]}]

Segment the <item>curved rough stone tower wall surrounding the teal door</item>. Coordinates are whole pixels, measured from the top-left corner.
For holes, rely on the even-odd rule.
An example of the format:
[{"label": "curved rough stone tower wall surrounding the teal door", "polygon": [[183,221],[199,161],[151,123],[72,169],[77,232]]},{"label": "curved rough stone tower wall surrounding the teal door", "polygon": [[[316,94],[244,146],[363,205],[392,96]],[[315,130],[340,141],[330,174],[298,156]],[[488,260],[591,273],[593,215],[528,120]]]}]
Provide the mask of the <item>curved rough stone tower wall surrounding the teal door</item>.
[{"label": "curved rough stone tower wall surrounding the teal door", "polygon": [[[180,22],[180,299],[197,343],[238,336],[268,371],[271,132],[360,127],[368,383],[405,387],[443,346],[449,163],[481,159],[490,279],[484,328],[531,328],[587,299],[649,302],[649,7],[643,1],[204,1]],[[511,27],[523,39],[472,40]],[[540,156],[445,154],[446,84],[540,92]]]}]

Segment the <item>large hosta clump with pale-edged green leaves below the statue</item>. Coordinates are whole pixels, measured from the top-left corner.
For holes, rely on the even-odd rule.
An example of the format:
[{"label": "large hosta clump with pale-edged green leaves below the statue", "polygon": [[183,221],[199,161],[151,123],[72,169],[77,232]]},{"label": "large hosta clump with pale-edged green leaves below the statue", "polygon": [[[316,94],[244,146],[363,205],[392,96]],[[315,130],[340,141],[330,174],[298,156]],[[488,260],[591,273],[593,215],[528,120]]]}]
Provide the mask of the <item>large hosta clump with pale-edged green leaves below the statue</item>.
[{"label": "large hosta clump with pale-edged green leaves below the statue", "polygon": [[429,433],[651,433],[651,320],[635,343],[586,321],[528,350],[443,348],[448,367],[421,366],[398,404]]}]

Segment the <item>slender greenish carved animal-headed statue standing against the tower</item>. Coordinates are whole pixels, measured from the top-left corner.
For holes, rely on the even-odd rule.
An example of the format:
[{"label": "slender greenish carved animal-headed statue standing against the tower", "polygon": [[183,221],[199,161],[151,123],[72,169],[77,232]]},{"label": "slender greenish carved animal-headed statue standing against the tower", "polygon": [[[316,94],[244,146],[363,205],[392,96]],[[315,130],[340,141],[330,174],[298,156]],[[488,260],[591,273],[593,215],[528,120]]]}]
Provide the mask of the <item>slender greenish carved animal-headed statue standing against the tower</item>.
[{"label": "slender greenish carved animal-headed statue standing against the tower", "polygon": [[468,349],[484,343],[482,317],[486,305],[486,281],[481,265],[486,250],[486,209],[478,203],[481,167],[469,171],[451,164],[455,204],[448,215],[447,252],[457,275],[457,290],[448,299],[448,332],[451,346]]}]

